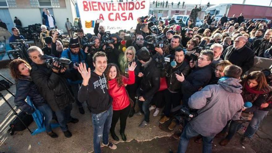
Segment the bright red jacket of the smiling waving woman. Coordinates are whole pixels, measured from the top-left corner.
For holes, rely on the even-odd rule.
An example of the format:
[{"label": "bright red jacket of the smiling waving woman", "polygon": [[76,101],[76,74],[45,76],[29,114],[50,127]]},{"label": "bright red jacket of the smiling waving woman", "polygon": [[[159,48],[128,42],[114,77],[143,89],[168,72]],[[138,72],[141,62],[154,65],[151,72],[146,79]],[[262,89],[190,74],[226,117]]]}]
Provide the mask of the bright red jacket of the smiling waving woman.
[{"label": "bright red jacket of the smiling waving woman", "polygon": [[[129,71],[129,78],[122,76],[124,84],[135,83],[134,71]],[[108,81],[109,95],[113,98],[113,110],[121,110],[130,105],[130,99],[127,95],[125,86],[118,87],[116,78]]]}]

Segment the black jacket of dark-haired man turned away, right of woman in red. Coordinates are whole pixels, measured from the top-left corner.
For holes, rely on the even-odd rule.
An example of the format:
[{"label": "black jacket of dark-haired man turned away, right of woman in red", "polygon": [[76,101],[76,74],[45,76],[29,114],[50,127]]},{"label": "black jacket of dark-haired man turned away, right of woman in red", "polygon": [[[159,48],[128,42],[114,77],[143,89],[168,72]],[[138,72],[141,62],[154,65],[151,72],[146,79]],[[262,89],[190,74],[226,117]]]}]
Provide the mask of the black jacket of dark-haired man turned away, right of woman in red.
[{"label": "black jacket of dark-haired man turned away, right of woman in red", "polygon": [[151,62],[146,68],[144,68],[144,66],[140,67],[140,72],[143,74],[140,88],[143,90],[143,93],[145,93],[142,96],[144,99],[148,99],[159,90],[160,69],[157,67],[157,62],[151,59]]}]

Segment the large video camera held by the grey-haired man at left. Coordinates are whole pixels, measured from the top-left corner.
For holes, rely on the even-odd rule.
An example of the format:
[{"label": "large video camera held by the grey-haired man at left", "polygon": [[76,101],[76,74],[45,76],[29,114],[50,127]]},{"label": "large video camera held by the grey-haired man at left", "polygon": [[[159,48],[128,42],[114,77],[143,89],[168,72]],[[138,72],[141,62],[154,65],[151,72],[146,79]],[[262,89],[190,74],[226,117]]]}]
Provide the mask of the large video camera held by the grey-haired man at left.
[{"label": "large video camera held by the grey-haired man at left", "polygon": [[[69,69],[70,67],[73,67],[73,63],[70,61],[70,59],[67,58],[57,58],[57,57],[52,57],[52,56],[48,56],[48,55],[43,55],[41,56],[41,59],[45,60],[46,66],[48,68],[53,68],[56,70],[62,70],[64,68]],[[54,62],[57,62],[57,64],[60,67],[56,67],[53,65]]]}]

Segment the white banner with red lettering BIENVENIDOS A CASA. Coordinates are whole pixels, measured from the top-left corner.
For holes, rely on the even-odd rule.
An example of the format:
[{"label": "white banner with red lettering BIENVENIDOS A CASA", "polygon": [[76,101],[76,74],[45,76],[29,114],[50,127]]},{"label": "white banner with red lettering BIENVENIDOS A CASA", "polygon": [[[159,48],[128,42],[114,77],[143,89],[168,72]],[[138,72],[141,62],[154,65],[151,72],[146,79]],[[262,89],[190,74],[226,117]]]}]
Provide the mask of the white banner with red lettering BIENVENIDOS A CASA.
[{"label": "white banner with red lettering BIENVENIDOS A CASA", "polygon": [[100,25],[105,26],[105,31],[114,33],[121,29],[135,29],[137,19],[148,15],[150,0],[132,2],[78,0],[77,4],[84,33],[94,33],[97,19],[103,20]]}]

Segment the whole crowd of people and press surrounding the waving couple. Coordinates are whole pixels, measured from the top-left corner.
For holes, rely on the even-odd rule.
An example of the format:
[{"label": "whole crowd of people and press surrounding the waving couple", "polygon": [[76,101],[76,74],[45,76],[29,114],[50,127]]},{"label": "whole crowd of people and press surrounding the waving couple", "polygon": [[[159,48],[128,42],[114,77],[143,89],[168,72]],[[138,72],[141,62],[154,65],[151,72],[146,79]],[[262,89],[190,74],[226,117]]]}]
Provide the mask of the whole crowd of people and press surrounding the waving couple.
[{"label": "whole crowd of people and press surrounding the waving couple", "polygon": [[[153,116],[162,114],[160,124],[171,120],[169,130],[181,125],[183,130],[174,135],[180,139],[179,153],[185,152],[189,139],[198,135],[201,137],[195,141],[203,142],[203,152],[211,152],[212,139],[225,134],[230,124],[227,137],[220,142],[227,145],[242,126],[241,114],[253,112],[240,141],[247,145],[272,108],[268,76],[262,71],[249,72],[254,56],[272,57],[271,22],[245,21],[242,13],[238,19],[233,15],[228,21],[224,15],[217,21],[207,14],[203,24],[195,27],[194,17],[199,9],[194,9],[186,27],[158,21],[159,33],[165,38],[158,46],[148,38],[158,32],[139,18],[134,32],[120,30],[109,35],[97,22],[94,34],[85,35],[79,28],[78,36],[73,38],[68,31],[71,39],[65,49],[54,29],[53,16],[44,9],[43,16],[48,22],[41,26],[40,36],[45,47],[28,48],[31,64],[14,59],[9,65],[16,80],[15,105],[33,113],[34,108],[24,101],[30,96],[36,109],[45,116],[47,134],[58,137],[50,126],[50,121],[56,118],[64,135],[70,138],[67,123],[79,121],[70,115],[72,103],[84,114],[82,103],[86,102],[92,115],[96,153],[101,152],[101,139],[102,146],[117,148],[109,142],[108,135],[119,141],[115,133],[119,119],[119,132],[126,141],[127,117],[142,116],[139,128],[145,128],[154,119],[150,118],[153,109]],[[73,26],[68,18],[65,25],[67,30]],[[10,42],[21,38],[17,28],[12,32]],[[70,59],[70,69],[58,62],[48,66],[44,55]],[[170,62],[158,62],[161,57],[169,57]],[[245,102],[251,102],[253,107],[245,109]],[[191,120],[187,117],[177,120],[172,108],[179,106],[198,115]]]}]

